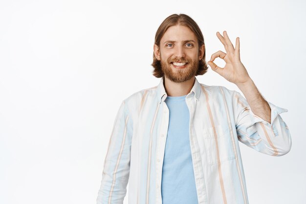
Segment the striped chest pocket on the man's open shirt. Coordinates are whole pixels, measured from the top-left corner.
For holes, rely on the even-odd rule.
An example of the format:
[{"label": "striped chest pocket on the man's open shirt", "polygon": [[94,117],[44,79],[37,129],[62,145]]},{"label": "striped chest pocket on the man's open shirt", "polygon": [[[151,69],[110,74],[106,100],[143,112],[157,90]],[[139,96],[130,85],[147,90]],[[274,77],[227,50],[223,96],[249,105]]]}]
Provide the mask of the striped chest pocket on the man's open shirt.
[{"label": "striped chest pocket on the man's open shirt", "polygon": [[203,128],[203,138],[206,149],[207,160],[209,164],[218,164],[219,162],[236,159],[234,144],[231,137],[231,132],[228,126],[215,126]]}]

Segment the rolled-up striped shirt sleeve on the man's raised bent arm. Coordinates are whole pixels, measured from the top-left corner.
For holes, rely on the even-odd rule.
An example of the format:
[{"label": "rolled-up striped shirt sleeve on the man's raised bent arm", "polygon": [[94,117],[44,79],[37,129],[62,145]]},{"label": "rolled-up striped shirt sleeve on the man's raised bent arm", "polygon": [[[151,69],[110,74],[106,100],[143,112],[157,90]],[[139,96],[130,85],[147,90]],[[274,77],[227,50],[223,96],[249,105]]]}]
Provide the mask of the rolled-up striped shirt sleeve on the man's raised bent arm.
[{"label": "rolled-up striped shirt sleeve on the man's raised bent arm", "polygon": [[291,136],[280,113],[288,112],[268,102],[271,123],[254,114],[246,99],[238,92],[233,97],[238,140],[243,144],[270,156],[283,156],[291,149]]}]

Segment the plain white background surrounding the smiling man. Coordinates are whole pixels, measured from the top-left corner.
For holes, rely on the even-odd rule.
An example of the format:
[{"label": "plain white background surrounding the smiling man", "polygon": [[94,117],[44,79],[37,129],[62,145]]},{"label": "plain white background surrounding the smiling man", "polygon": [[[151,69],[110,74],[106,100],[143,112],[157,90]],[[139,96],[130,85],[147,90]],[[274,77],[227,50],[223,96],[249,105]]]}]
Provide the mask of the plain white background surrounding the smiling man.
[{"label": "plain white background surrounding the smiling man", "polygon": [[[240,37],[259,91],[288,109],[287,155],[240,143],[250,204],[305,204],[305,10],[302,0],[1,0],[0,203],[95,204],[120,103],[157,86],[155,32],[184,13],[202,30],[207,60],[225,51],[217,31],[234,45]],[[239,91],[210,68],[197,79]]]}]

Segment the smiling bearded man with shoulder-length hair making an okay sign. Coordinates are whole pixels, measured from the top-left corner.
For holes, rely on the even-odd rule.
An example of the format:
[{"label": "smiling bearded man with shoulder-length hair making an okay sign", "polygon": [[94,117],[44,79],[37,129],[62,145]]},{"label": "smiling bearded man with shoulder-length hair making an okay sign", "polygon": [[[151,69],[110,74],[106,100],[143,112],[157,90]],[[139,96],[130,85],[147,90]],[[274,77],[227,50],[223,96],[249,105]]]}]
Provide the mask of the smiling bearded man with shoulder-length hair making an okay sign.
[{"label": "smiling bearded man with shoulder-length hair making an okay sign", "polygon": [[[200,84],[203,35],[194,20],[173,14],[159,26],[153,46],[158,86],[122,101],[109,139],[97,204],[248,204],[238,141],[270,156],[290,151],[280,113],[263,99],[227,33],[217,37],[226,53],[210,67],[238,91]],[[226,62],[219,68],[214,60]]]}]

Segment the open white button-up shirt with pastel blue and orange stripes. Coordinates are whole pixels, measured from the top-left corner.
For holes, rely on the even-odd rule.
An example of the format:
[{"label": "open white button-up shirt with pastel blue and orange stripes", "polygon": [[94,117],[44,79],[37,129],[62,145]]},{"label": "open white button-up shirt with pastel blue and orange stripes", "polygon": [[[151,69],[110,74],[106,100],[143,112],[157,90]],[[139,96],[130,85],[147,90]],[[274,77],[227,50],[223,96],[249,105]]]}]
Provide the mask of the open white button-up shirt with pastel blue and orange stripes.
[{"label": "open white button-up shirt with pastel blue and orange stripes", "polygon": [[[97,204],[162,204],[161,177],[169,124],[163,78],[158,86],[124,99],[104,160]],[[286,109],[268,102],[271,123],[254,114],[246,99],[223,86],[195,79],[186,95],[189,137],[199,204],[248,204],[238,142],[270,156],[291,149]],[[183,185],[183,183],[182,183]]]}]

